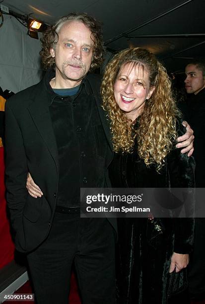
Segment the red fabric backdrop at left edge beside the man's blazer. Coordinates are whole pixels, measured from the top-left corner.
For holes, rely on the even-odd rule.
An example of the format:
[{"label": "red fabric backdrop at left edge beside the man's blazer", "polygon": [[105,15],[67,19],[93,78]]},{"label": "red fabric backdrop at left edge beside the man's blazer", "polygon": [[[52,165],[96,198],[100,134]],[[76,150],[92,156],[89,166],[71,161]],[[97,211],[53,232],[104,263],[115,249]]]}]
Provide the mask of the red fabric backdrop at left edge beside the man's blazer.
[{"label": "red fabric backdrop at left edge beside the man's blazer", "polygon": [[13,257],[14,244],[6,216],[3,147],[0,147],[0,268],[11,262]]}]

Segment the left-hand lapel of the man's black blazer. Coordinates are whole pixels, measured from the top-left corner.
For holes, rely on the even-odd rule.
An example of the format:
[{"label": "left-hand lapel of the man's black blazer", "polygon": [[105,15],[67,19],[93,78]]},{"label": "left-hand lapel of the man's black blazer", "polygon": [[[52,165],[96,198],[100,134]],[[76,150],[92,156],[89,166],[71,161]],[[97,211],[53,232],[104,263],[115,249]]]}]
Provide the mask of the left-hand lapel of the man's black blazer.
[{"label": "left-hand lapel of the man's black blazer", "polygon": [[45,89],[37,89],[37,91],[33,102],[28,107],[28,111],[56,163],[57,171],[59,171],[58,148],[49,111],[50,98]]}]

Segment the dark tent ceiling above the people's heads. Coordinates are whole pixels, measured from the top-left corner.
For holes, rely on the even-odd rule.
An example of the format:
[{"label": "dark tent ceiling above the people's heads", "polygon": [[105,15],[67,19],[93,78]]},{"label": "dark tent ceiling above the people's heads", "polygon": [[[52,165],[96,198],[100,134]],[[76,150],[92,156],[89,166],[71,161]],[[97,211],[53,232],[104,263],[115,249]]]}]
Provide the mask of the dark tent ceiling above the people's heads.
[{"label": "dark tent ceiling above the people's heads", "polygon": [[48,24],[69,12],[87,12],[103,23],[108,50],[147,48],[170,72],[182,71],[187,58],[205,54],[205,0],[5,0],[2,4]]}]

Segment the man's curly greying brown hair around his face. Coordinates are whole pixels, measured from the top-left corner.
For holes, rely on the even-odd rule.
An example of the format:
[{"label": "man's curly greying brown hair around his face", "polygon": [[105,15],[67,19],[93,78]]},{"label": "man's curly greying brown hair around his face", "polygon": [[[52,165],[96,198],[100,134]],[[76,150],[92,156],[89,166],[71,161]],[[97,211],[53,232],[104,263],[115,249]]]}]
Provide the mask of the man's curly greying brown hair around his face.
[{"label": "man's curly greying brown hair around his face", "polygon": [[55,58],[52,58],[50,50],[51,48],[56,48],[59,39],[58,33],[64,23],[68,21],[80,21],[91,31],[91,39],[94,42],[94,46],[90,70],[100,67],[103,61],[102,53],[104,51],[102,28],[95,18],[86,13],[70,13],[67,16],[61,17],[56,24],[46,29],[41,38],[42,50],[40,55],[43,67],[45,69],[55,67]]}]

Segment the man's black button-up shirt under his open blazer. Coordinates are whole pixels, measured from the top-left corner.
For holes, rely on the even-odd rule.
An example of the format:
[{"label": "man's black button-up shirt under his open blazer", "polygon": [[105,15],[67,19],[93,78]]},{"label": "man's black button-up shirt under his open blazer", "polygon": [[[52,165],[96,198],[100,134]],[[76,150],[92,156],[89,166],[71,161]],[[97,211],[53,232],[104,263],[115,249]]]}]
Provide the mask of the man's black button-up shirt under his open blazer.
[{"label": "man's black button-up shirt under his open blazer", "polygon": [[57,206],[79,206],[80,187],[99,187],[104,178],[100,142],[106,138],[86,78],[76,95],[63,97],[52,90],[50,114],[59,153]]}]

